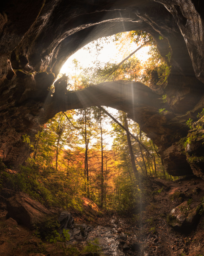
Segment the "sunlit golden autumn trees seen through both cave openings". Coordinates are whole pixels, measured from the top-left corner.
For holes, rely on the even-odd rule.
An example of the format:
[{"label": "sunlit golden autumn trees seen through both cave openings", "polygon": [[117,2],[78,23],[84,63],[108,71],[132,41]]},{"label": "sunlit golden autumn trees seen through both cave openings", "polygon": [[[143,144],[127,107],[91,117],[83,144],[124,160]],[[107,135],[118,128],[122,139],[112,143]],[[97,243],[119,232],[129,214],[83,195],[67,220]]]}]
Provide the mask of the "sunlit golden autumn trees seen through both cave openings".
[{"label": "sunlit golden autumn trees seen through both cave openings", "polygon": [[[149,57],[146,62],[135,54],[126,58],[125,51],[120,63],[101,62],[98,56],[110,41],[119,50],[126,49],[129,42],[134,43],[135,49],[141,45],[148,47]],[[165,86],[171,70],[171,52],[163,59],[153,37],[146,32],[132,31],[98,39],[84,49],[95,49],[98,55],[93,66],[86,68],[73,59],[75,72],[69,74],[67,90],[116,80]],[[51,90],[54,94],[54,87]],[[165,102],[165,95],[161,100]],[[7,187],[24,191],[46,206],[80,210],[81,197],[85,196],[106,210],[129,211],[140,203],[144,177],[171,178],[153,141],[126,113],[111,108],[104,111],[93,106],[60,112],[41,126],[34,140],[25,134],[24,142],[29,148],[25,165],[12,179],[3,172],[2,180]]]}]

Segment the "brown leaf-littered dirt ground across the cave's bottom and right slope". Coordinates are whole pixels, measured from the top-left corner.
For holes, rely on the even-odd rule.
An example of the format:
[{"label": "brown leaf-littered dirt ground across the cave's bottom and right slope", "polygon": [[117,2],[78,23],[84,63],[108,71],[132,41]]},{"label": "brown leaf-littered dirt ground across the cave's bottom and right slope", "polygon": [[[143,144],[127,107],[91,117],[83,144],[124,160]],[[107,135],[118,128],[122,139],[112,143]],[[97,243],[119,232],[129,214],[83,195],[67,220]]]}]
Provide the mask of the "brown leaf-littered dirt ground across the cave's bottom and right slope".
[{"label": "brown leaf-littered dirt ground across the cave's bottom and right slope", "polygon": [[[204,215],[185,233],[175,231],[166,221],[171,210],[183,201],[191,198],[193,205],[193,202],[198,202],[204,197],[204,180],[195,177],[173,182],[151,179],[147,186],[149,197],[140,214],[130,213],[124,216],[104,213],[93,222],[86,221],[86,224],[92,227],[88,239],[98,239],[100,247],[103,248],[103,241],[108,237],[110,240],[107,246],[111,248],[111,239],[114,237],[117,251],[102,249],[102,255],[204,256]],[[173,197],[179,193],[180,197]],[[4,204],[1,204],[0,256],[94,255],[97,246],[93,243],[91,247],[87,241],[74,242],[74,247],[68,245],[68,248],[64,249],[62,242],[54,244],[41,240],[37,232],[10,219],[6,220],[6,213]],[[84,222],[76,213],[73,213],[73,217],[76,223]],[[102,238],[104,240],[101,240]],[[84,246],[90,247],[89,253],[79,252]]]}]

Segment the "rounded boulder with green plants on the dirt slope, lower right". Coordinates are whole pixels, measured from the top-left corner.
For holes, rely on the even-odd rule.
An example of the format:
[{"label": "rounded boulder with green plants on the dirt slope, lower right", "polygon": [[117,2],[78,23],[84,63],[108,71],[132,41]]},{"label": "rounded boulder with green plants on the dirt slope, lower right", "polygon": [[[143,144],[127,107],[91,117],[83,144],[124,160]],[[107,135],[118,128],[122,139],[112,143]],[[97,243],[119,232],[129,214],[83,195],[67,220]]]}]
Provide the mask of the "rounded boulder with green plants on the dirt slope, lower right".
[{"label": "rounded boulder with green plants on the dirt slope, lower right", "polygon": [[191,207],[188,202],[185,201],[171,210],[171,213],[167,216],[167,222],[178,231],[189,231],[199,220],[201,207],[201,204]]}]

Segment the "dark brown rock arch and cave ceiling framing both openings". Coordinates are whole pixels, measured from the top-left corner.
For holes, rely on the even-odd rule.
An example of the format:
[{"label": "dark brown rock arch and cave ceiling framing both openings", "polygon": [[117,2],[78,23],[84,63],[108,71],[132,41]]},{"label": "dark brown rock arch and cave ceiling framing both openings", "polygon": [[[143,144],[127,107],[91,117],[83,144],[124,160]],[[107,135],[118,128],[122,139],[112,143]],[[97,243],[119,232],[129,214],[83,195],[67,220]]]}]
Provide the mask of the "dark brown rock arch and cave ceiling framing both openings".
[{"label": "dark brown rock arch and cave ceiling framing both openings", "polygon": [[[204,176],[204,3],[199,0],[15,0],[0,11],[0,158],[16,168],[39,125],[59,111],[91,105],[128,113],[159,147],[175,176]],[[171,52],[167,85],[105,82],[67,93],[49,88],[71,54],[118,32],[142,30],[162,57]],[[164,39],[159,40],[159,36]],[[162,95],[167,96],[163,103]],[[160,114],[159,109],[167,112]],[[189,130],[186,121],[197,122]],[[196,123],[195,123],[196,124]]]}]

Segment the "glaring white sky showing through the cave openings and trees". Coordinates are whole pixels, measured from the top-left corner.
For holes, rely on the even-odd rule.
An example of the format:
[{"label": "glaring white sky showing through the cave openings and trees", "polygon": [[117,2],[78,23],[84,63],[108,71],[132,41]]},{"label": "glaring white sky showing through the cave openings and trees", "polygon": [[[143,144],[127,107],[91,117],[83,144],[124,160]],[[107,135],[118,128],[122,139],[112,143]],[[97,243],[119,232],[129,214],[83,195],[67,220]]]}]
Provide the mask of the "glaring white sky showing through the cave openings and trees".
[{"label": "glaring white sky showing through the cave openings and trees", "polygon": [[[120,63],[123,59],[125,59],[131,52],[136,50],[140,45],[136,45],[134,42],[131,43],[131,39],[127,38],[127,33],[122,34],[122,43],[118,45],[118,42],[113,41],[115,36],[109,37],[109,43],[101,43],[103,48],[100,50],[100,54],[98,54],[97,49],[94,43],[89,43],[84,48],[80,49],[78,52],[75,52],[62,66],[60,73],[68,75],[70,78],[72,75],[75,75],[75,67],[73,63],[73,59],[76,59],[82,68],[88,68],[89,66],[93,66],[93,62],[97,59],[102,63],[112,62],[112,63]],[[125,42],[125,43],[124,43]],[[87,48],[90,48],[88,50]],[[135,53],[135,57],[140,59],[141,62],[146,61],[149,58],[149,46],[142,47]],[[80,70],[76,71],[76,75],[80,74]],[[61,76],[61,75],[60,75]],[[72,83],[71,81],[69,81]],[[113,116],[117,113],[115,109],[108,108],[109,113]],[[111,130],[111,126],[107,120],[106,124],[104,123],[104,128],[107,129],[107,133],[104,135],[104,144],[107,143],[108,149],[111,149],[113,144],[113,138],[111,138],[109,131]],[[94,144],[95,141],[92,141]]]}]

